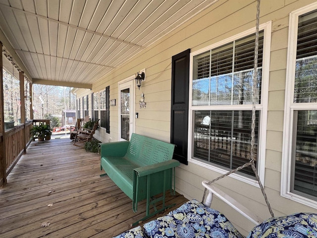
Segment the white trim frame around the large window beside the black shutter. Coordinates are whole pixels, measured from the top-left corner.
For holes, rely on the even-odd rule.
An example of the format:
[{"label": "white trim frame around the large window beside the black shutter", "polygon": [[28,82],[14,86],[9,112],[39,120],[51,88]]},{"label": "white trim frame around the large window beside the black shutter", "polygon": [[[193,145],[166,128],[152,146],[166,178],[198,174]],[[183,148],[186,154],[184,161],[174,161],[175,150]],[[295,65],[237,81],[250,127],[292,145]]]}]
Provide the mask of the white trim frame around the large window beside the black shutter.
[{"label": "white trim frame around the large window beside the black shutter", "polygon": [[[258,105],[257,110],[261,110],[261,119],[260,119],[260,138],[259,138],[259,161],[258,161],[258,173],[262,184],[264,185],[264,172],[265,172],[265,145],[266,145],[266,121],[267,121],[267,101],[268,101],[268,78],[269,78],[269,62],[270,62],[270,45],[271,45],[271,26],[272,22],[268,21],[260,25],[260,30],[264,30],[264,52],[263,52],[263,63],[262,63],[262,94],[261,94],[261,105]],[[190,83],[189,83],[189,128],[188,128],[188,161],[207,168],[209,170],[215,171],[219,174],[226,174],[228,170],[221,169],[219,167],[203,163],[193,158],[193,140],[192,135],[194,131],[193,127],[193,111],[197,110],[217,110],[217,108],[226,109],[226,110],[237,110],[236,106],[233,105],[218,105],[218,106],[192,106],[192,85],[193,85],[193,58],[196,55],[209,51],[211,49],[217,48],[219,46],[225,45],[234,40],[238,40],[245,36],[251,35],[256,32],[256,28],[249,29],[240,34],[227,38],[223,41],[217,42],[211,46],[205,47],[201,50],[192,52],[190,54]],[[252,110],[252,105],[241,105],[239,109],[242,110]],[[259,186],[259,183],[256,179],[251,179],[240,174],[231,174],[229,177],[246,182],[248,184]]]}]

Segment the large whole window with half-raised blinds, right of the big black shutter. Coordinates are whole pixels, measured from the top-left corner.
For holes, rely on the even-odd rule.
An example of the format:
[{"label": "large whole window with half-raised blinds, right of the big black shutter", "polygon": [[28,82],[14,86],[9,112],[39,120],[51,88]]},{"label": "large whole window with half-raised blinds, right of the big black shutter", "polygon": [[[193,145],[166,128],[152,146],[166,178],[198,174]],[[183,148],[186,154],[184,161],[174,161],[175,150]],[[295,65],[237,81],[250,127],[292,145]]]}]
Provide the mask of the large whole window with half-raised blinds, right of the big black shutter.
[{"label": "large whole window with half-raised blinds, right of the big black shutter", "polygon": [[[259,33],[254,154],[258,167],[260,155],[263,161],[265,156],[260,125],[266,124],[267,114],[268,80],[263,75],[268,74],[268,65],[263,64],[269,57],[269,28],[270,23],[264,24]],[[191,54],[191,162],[223,174],[249,162],[254,48],[255,33],[248,31]],[[264,168],[259,174],[263,181]],[[238,177],[254,184],[251,168],[241,170]]]}]

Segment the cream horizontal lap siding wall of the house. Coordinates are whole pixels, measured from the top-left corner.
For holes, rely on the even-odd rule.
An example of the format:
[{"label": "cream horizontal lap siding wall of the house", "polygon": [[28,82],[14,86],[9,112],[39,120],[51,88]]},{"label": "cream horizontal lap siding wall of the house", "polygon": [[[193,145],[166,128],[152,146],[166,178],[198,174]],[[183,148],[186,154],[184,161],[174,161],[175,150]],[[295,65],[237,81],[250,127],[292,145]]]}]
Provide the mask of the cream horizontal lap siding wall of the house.
[{"label": "cream horizontal lap siding wall of the house", "polygon": [[[281,161],[283,143],[284,98],[288,46],[289,13],[315,2],[315,0],[262,0],[261,23],[271,25],[269,65],[268,114],[266,127],[266,157],[264,186],[275,216],[299,211],[317,212],[316,209],[280,196]],[[219,0],[208,9],[190,19],[146,50],[113,70],[100,81],[93,83],[92,92],[110,85],[110,100],[118,101],[118,81],[146,68],[146,82],[136,89],[136,133],[163,141],[170,140],[171,58],[188,48],[195,52],[211,44],[255,27],[256,1]],[[141,93],[145,94],[146,109],[139,109]],[[77,96],[86,91],[78,90]],[[90,102],[91,103],[91,102]],[[118,107],[110,107],[110,134],[101,129],[96,133],[102,141],[118,140]],[[181,165],[176,171],[176,190],[188,199],[201,200],[204,179],[220,174],[199,165]],[[269,212],[261,190],[237,179],[226,177],[216,182],[219,187],[249,207],[263,219]],[[239,214],[217,199],[213,208],[224,213],[244,235],[254,227]]]}]

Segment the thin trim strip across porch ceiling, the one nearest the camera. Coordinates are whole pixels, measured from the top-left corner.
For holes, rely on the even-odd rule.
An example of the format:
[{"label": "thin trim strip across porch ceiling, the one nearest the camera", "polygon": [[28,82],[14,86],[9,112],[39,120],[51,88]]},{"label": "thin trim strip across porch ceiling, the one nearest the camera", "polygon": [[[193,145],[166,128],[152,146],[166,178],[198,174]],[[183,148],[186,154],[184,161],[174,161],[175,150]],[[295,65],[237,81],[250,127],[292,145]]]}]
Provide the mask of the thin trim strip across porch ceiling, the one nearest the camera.
[{"label": "thin trim strip across porch ceiling, the one nearest the camera", "polygon": [[128,41],[124,41],[124,40],[120,40],[118,38],[115,38],[115,37],[112,37],[112,36],[107,36],[105,34],[102,34],[102,33],[98,33],[98,32],[95,32],[95,31],[91,31],[91,30],[88,30],[88,29],[85,29],[85,28],[82,28],[82,27],[78,27],[76,25],[72,25],[72,24],[68,24],[68,23],[65,23],[65,22],[61,22],[61,21],[57,21],[55,19],[52,19],[52,18],[49,18],[49,17],[46,17],[46,16],[41,16],[41,15],[38,15],[36,13],[33,13],[33,12],[29,12],[29,11],[24,11],[24,10],[21,10],[19,8],[15,8],[15,7],[12,7],[12,6],[8,6],[6,4],[3,4],[3,3],[0,3],[1,6],[4,6],[6,8],[9,8],[13,11],[19,11],[19,12],[23,12],[24,14],[28,14],[28,15],[31,15],[31,16],[36,16],[38,18],[42,18],[42,19],[46,19],[48,21],[53,21],[53,22],[56,22],[58,24],[61,24],[61,25],[65,25],[65,26],[68,26],[68,27],[72,27],[72,28],[75,28],[75,29],[78,29],[78,30],[81,30],[81,31],[85,31],[85,32],[88,32],[88,33],[91,33],[91,34],[94,34],[94,35],[98,35],[98,36],[101,36],[101,37],[105,37],[107,39],[111,39],[113,41],[118,41],[118,42],[121,42],[121,43],[124,43],[124,44],[127,44],[127,45],[131,45],[131,46],[135,46],[135,47],[138,47],[138,48],[141,48],[141,49],[145,49],[145,47],[143,46],[139,46],[137,44],[133,44],[131,42],[128,42]]}]

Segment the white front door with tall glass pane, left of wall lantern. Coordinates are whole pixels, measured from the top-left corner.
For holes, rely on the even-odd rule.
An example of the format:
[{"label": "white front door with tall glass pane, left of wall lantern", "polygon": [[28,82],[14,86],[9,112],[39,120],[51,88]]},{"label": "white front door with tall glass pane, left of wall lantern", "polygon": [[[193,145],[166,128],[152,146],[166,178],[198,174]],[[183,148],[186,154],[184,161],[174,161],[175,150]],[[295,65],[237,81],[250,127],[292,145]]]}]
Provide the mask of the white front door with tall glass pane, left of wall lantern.
[{"label": "white front door with tall glass pane, left of wall lantern", "polygon": [[119,140],[130,140],[134,132],[134,81],[119,83]]}]

